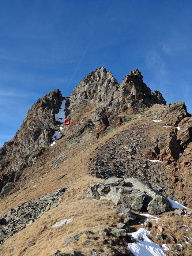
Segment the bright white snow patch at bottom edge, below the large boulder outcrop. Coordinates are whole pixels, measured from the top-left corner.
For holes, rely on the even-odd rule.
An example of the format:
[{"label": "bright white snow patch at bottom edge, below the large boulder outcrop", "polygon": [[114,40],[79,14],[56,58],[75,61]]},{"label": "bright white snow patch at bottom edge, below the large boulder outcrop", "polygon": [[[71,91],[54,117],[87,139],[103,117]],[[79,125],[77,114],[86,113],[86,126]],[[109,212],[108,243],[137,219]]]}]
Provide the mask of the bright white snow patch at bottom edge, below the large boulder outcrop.
[{"label": "bright white snow patch at bottom edge, below the large boulder outcrop", "polygon": [[[129,250],[135,256],[165,256],[163,248],[147,237],[149,234],[150,231],[143,227],[134,233],[128,234],[136,240],[136,243],[129,243]],[[139,237],[142,237],[143,241],[139,240]]]}]

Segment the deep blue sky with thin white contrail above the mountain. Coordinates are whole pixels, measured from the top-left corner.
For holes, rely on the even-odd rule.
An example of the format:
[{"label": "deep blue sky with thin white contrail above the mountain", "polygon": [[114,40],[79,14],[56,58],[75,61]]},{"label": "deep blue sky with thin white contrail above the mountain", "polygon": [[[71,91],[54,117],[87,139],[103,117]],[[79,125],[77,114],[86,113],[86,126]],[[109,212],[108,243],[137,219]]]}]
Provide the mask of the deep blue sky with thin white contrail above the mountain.
[{"label": "deep blue sky with thin white contrail above the mountain", "polygon": [[38,98],[69,96],[102,66],[118,82],[140,69],[152,91],[192,112],[191,10],[187,0],[0,1],[0,146]]}]

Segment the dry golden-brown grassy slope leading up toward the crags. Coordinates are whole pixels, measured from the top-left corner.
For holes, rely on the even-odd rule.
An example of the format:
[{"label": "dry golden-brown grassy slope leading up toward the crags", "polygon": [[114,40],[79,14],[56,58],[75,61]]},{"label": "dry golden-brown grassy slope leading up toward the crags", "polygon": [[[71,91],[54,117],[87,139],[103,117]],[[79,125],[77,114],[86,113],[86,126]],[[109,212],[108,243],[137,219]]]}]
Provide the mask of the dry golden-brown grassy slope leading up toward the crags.
[{"label": "dry golden-brown grassy slope leading up toward the crags", "polygon": [[[63,247],[64,239],[78,231],[93,231],[99,227],[116,227],[118,219],[116,218],[117,206],[114,206],[113,203],[109,202],[106,205],[103,201],[84,198],[87,193],[87,187],[91,182],[100,181],[90,176],[87,163],[95,148],[100,144],[104,144],[107,138],[115,136],[123,129],[131,126],[133,122],[138,122],[138,120],[129,121],[121,125],[99,140],[92,136],[84,143],[76,144],[76,147],[67,147],[64,137],[45,151],[45,154],[38,159],[35,165],[34,177],[31,181],[26,181],[24,185],[27,189],[23,190],[21,188],[20,191],[2,200],[1,216],[10,208],[14,208],[27,200],[55,192],[62,187],[68,187],[67,192],[57,208],[46,212],[26,229],[5,241],[1,246],[0,253],[2,256],[48,256],[52,255],[57,249],[61,252],[78,249],[86,252],[86,255],[90,255],[89,249],[91,249],[91,246],[85,245],[84,241],[82,241],[86,240],[86,237],[82,237],[82,240],[66,248]],[[150,132],[147,129],[143,130],[149,138],[153,138],[157,132],[160,133],[159,129],[162,125],[152,121],[149,124],[149,120],[146,120],[145,117],[140,118],[139,122],[143,122],[144,127],[147,125],[151,127]],[[164,129],[161,132],[167,132],[167,130]],[[55,159],[63,155],[65,160],[61,165],[52,165]],[[44,170],[39,171],[42,165],[44,165]],[[58,180],[57,178],[63,174],[66,174],[66,176]],[[72,182],[70,182],[71,180]],[[13,198],[18,192],[20,192],[19,195]],[[59,229],[51,228],[55,222],[72,216],[74,216],[73,222]],[[35,245],[28,245],[28,241],[34,241]],[[93,248],[99,248],[99,244],[101,246],[100,238],[94,243]],[[107,252],[108,248],[104,249]]]}]

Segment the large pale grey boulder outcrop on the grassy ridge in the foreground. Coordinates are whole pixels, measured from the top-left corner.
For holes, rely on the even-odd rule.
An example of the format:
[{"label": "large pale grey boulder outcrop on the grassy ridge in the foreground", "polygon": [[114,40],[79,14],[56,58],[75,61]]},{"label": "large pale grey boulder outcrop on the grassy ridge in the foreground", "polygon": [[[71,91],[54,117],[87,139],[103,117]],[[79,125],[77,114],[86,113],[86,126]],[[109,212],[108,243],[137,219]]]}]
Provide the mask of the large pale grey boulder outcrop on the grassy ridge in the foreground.
[{"label": "large pale grey boulder outcrop on the grassy ridge in the foreground", "polygon": [[109,178],[92,183],[88,187],[87,198],[111,200],[116,205],[136,211],[147,210],[154,215],[170,210],[165,196],[136,178]]}]

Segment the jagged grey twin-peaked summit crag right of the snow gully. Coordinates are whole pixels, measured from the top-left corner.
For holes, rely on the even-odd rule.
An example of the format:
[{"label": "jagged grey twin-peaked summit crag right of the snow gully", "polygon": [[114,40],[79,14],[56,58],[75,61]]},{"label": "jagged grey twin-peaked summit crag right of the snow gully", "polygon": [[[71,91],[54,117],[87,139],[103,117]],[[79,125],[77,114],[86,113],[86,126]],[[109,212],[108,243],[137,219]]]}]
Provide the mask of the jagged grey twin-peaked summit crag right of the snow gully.
[{"label": "jagged grey twin-peaked summit crag right of the snow gully", "polygon": [[114,111],[135,113],[155,103],[165,104],[160,92],[151,93],[143,83],[143,76],[134,69],[118,84],[110,71],[105,67],[96,69],[85,76],[75,87],[70,96],[69,109],[75,112],[81,103],[93,103],[102,107],[113,107]]}]

